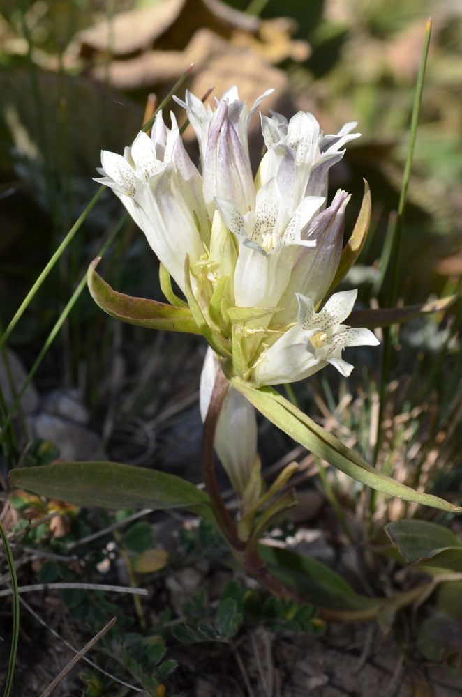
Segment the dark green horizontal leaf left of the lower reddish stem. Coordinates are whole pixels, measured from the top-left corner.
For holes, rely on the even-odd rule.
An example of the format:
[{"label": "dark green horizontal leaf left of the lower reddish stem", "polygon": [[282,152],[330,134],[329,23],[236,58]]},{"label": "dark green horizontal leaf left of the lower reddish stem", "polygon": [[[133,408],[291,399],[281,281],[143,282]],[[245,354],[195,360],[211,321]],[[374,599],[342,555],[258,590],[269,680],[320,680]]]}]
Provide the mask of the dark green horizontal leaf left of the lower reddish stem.
[{"label": "dark green horizontal leaf left of the lower reddish stem", "polygon": [[119,462],[58,462],[11,470],[14,487],[40,496],[103,508],[188,508],[211,523],[209,497],[174,475]]}]

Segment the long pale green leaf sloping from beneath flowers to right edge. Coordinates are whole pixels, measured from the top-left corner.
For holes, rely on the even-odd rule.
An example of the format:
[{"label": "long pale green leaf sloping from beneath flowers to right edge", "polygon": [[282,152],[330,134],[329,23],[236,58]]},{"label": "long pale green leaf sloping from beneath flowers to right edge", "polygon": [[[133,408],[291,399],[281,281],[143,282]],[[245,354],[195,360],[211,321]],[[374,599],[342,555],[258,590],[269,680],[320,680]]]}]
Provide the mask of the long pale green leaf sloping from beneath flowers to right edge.
[{"label": "long pale green leaf sloping from beneath flowers to right edge", "polygon": [[422,503],[452,513],[462,512],[459,506],[454,506],[438,496],[415,491],[375,470],[338,438],[327,433],[290,401],[279,395],[276,390],[269,387],[257,389],[239,378],[232,378],[232,384],[258,411],[285,431],[288,436],[358,482],[406,501]]}]

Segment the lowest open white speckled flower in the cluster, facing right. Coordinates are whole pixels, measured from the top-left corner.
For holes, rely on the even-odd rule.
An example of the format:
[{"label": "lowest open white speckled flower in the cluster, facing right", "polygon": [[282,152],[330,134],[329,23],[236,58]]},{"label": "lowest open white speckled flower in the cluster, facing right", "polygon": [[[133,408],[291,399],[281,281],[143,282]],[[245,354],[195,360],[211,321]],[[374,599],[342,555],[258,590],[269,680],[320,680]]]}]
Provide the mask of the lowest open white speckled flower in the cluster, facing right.
[{"label": "lowest open white speckled flower in the cluster, facing right", "polygon": [[298,322],[267,349],[253,368],[258,385],[278,385],[303,380],[328,363],[344,376],[353,366],[342,358],[347,346],[376,346],[368,329],[350,329],[342,324],[355,304],[357,290],[334,293],[325,307],[315,312],[313,300],[297,293]]}]

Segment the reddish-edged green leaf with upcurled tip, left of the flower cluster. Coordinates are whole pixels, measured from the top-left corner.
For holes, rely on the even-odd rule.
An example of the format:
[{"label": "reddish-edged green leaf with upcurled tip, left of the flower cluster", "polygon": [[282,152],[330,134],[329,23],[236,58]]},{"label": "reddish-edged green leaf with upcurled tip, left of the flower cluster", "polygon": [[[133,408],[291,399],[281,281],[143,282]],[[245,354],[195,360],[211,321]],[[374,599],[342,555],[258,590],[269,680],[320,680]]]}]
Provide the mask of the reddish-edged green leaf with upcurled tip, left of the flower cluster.
[{"label": "reddish-edged green leaf with upcurled tip, left of the flower cluster", "polygon": [[128,324],[167,332],[200,334],[198,325],[188,307],[174,307],[165,302],[147,298],[133,298],[118,293],[96,273],[100,259],[91,262],[87,273],[87,284],[91,297],[101,309],[115,319]]}]

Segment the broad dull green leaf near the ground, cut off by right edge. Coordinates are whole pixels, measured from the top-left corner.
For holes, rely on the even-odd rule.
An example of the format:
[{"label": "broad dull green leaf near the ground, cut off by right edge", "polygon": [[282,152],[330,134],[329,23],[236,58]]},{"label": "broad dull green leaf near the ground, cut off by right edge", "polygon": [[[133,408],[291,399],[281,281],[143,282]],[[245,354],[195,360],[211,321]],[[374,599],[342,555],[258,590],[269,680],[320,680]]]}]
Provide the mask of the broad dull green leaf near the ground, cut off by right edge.
[{"label": "broad dull green leaf near the ground, cut off by right edge", "polygon": [[408,564],[462,572],[462,544],[452,530],[419,520],[394,521],[387,535]]}]

